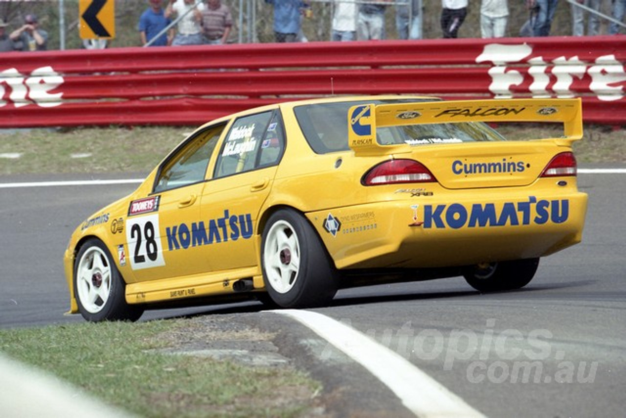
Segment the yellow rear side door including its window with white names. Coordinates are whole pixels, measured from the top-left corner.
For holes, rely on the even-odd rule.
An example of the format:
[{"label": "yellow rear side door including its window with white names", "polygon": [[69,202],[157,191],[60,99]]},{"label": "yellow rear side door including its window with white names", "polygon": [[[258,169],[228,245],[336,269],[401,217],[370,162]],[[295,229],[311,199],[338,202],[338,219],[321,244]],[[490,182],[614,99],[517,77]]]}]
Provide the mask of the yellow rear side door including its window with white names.
[{"label": "yellow rear side door including its window with white names", "polygon": [[235,120],[218,151],[213,179],[202,194],[200,216],[215,271],[257,264],[254,231],[285,149],[278,110]]}]

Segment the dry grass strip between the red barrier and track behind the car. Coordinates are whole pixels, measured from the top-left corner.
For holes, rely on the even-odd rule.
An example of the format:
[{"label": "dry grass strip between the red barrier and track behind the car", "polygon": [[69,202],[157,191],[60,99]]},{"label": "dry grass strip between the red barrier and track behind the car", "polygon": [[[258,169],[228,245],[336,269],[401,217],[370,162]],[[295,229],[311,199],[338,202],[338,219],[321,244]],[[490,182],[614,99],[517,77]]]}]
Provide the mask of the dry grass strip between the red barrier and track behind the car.
[{"label": "dry grass strip between the red barrier and track behind the car", "polygon": [[[0,175],[150,172],[193,127],[31,129],[0,133]],[[562,135],[560,127],[501,125],[510,139]],[[587,126],[574,152],[582,163],[626,163],[626,131]],[[1,155],[19,155],[2,158]]]}]

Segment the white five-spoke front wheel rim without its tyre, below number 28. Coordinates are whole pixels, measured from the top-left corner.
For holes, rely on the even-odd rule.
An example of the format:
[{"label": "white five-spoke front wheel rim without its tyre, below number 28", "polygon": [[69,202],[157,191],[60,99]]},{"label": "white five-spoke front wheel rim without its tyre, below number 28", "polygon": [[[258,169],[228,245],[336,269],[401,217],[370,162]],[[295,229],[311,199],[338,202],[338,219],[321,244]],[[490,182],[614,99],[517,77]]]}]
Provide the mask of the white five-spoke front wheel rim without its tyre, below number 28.
[{"label": "white five-spoke front wheel rim without its tyre, below number 28", "polygon": [[111,295],[111,263],[102,249],[91,246],[76,269],[78,299],[89,313],[98,313]]}]

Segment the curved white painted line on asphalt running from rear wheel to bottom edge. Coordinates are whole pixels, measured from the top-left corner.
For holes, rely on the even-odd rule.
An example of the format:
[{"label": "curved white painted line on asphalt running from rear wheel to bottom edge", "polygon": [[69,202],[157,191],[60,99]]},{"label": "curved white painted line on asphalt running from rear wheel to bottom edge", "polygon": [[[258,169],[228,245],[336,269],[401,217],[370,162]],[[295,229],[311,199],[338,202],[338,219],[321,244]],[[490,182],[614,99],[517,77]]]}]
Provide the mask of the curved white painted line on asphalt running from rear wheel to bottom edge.
[{"label": "curved white painted line on asphalt running from rear wheel to bottom edge", "polygon": [[413,363],[354,328],[313,311],[270,312],[300,321],[339,348],[387,385],[405,407],[421,418],[485,417]]}]

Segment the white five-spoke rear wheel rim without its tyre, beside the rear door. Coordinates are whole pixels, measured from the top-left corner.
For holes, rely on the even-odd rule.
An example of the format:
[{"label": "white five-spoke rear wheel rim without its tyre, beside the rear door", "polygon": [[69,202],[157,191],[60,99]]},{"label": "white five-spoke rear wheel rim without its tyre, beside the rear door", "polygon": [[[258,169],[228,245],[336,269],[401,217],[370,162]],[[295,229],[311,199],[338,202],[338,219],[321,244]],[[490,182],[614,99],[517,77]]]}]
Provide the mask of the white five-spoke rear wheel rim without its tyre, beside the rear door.
[{"label": "white five-spoke rear wheel rim without its tyre, beside the rear door", "polygon": [[294,227],[284,220],[272,224],[263,252],[267,281],[278,293],[287,293],[298,280],[300,242]]}]

